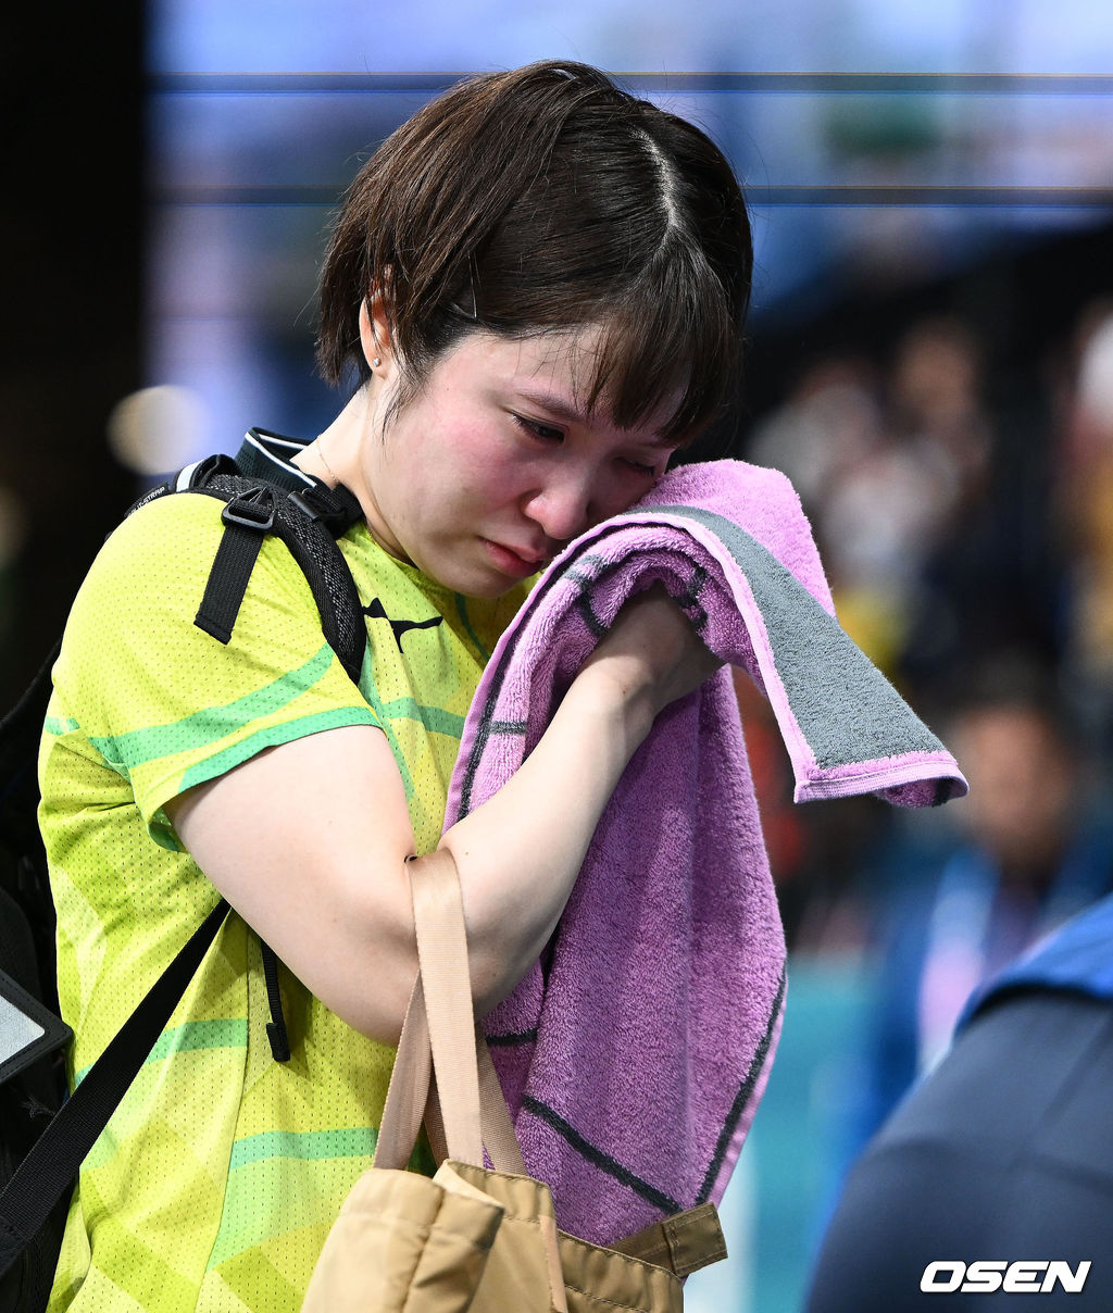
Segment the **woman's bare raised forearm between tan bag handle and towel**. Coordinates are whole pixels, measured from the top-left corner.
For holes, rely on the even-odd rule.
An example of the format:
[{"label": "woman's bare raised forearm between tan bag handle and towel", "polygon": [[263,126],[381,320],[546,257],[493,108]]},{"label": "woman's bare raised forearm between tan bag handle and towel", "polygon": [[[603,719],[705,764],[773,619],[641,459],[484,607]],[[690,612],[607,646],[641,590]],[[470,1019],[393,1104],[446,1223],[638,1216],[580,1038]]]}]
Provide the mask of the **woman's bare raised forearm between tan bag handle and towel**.
[{"label": "woman's bare raised forearm between tan bag handle and towel", "polygon": [[622,674],[614,663],[585,667],[517,772],[441,842],[459,869],[480,1012],[514,987],[553,934],[604,807],[652,725],[647,693]]}]

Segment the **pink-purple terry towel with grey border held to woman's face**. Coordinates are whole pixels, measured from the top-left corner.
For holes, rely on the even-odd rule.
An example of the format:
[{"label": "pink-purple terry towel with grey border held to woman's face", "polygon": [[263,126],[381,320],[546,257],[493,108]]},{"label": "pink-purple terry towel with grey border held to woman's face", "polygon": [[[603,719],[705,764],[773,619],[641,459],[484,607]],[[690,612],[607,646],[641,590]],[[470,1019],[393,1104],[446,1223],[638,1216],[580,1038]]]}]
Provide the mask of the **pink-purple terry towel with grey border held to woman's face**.
[{"label": "pink-purple terry towel with grey border held to woman's face", "polygon": [[[446,825],[513,775],[622,604],[660,580],[769,697],[797,800],[966,792],[833,618],[784,475],[690,465],[571,544],[475,695]],[[560,806],[554,798],[553,806]],[[728,670],[667,708],[596,830],[560,924],[484,1023],[526,1166],[560,1226],[608,1243],[718,1203],[765,1086],[785,943]]]}]

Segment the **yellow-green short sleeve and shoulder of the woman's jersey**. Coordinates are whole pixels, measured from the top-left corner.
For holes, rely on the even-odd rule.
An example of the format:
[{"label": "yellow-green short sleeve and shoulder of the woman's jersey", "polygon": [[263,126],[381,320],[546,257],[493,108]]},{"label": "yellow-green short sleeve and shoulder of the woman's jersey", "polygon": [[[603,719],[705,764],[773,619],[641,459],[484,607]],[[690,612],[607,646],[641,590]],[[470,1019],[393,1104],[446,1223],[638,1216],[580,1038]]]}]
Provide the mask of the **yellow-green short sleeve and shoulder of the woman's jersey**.
[{"label": "yellow-green short sleeve and shoulder of the woman's jersey", "polygon": [[167,846],[167,801],[265,747],[375,725],[329,646],[285,544],[265,537],[228,642],[197,622],[223,503],[173,494],[134,512],[101,550],[70,616],[54,684],[105,762],[130,780]]}]

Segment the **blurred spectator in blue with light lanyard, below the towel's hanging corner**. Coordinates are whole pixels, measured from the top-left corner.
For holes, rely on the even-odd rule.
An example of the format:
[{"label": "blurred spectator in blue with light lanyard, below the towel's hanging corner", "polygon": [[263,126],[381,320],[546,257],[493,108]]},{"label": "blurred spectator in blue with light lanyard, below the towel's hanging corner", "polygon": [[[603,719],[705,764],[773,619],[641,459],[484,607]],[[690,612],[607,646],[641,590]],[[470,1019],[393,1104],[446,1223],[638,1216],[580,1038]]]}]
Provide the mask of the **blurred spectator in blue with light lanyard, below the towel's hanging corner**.
[{"label": "blurred spectator in blue with light lanyard, below the towel's hanging corner", "polygon": [[894,831],[879,868],[861,1133],[949,1043],[970,993],[1113,889],[1113,825],[1043,671],[987,664],[945,734],[970,781],[954,831]]}]

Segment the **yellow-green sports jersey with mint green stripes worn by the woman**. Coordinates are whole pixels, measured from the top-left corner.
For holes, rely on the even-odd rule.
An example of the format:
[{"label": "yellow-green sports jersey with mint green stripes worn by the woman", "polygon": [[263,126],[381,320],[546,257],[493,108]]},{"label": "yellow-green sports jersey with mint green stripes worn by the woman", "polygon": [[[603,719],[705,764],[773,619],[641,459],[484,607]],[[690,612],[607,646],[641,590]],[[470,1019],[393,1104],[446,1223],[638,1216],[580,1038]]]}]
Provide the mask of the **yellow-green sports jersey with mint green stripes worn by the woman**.
[{"label": "yellow-green sports jersey with mint green stripes worn by the woman", "polygon": [[[416,850],[434,848],[465,714],[525,595],[465,599],[360,521],[340,540],[368,616],[356,687],[277,538],[264,541],[231,642],[193,624],[222,508],[180,494],[130,516],[85,579],[55,666],[39,819],[74,1083],[218,899],[167,802],[262,748],[371,725],[402,773]],[[51,1313],[301,1306],[370,1165],[394,1050],[285,968],[281,981],[285,1064],[266,1036],[259,940],[232,914],[81,1167]]]}]

